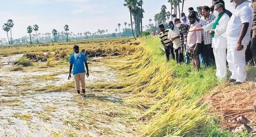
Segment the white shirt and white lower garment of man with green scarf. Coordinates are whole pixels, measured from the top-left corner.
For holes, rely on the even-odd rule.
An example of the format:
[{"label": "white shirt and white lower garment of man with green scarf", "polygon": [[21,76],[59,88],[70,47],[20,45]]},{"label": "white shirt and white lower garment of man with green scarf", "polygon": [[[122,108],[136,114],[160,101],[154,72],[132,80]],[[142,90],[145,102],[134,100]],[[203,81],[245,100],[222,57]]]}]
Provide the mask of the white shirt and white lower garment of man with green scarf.
[{"label": "white shirt and white lower garment of man with green scarf", "polygon": [[[217,17],[216,17],[217,19]],[[211,30],[216,19],[212,21],[210,24],[203,26],[204,31]],[[212,47],[213,52],[215,56],[215,62],[216,62],[216,76],[219,79],[224,79],[227,76],[227,64],[226,64],[226,50],[227,50],[227,38],[224,37],[226,28],[228,25],[230,18],[228,14],[224,13],[216,28],[214,29],[215,34],[212,38]]]}]

